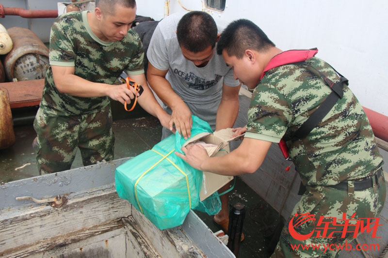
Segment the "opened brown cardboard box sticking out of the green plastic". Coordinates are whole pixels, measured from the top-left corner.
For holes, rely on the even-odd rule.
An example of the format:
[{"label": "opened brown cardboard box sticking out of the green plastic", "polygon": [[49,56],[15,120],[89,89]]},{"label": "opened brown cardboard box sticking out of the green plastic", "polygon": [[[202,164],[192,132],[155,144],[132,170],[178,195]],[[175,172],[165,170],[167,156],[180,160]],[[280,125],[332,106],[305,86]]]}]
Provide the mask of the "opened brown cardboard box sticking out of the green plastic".
[{"label": "opened brown cardboard box sticking out of the green plastic", "polygon": [[[230,152],[229,141],[240,137],[232,136],[233,131],[231,128],[215,131],[213,134],[201,133],[191,138],[183,146],[197,141],[203,141],[205,143],[216,145],[214,147],[205,147],[210,157],[224,156]],[[199,194],[199,199],[203,201],[204,199],[212,195],[214,192],[218,191],[221,187],[226,185],[226,183],[230,182],[232,179],[233,176],[223,176],[204,171],[202,190]]]}]

